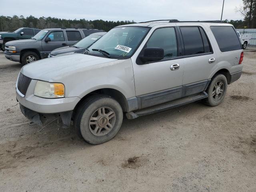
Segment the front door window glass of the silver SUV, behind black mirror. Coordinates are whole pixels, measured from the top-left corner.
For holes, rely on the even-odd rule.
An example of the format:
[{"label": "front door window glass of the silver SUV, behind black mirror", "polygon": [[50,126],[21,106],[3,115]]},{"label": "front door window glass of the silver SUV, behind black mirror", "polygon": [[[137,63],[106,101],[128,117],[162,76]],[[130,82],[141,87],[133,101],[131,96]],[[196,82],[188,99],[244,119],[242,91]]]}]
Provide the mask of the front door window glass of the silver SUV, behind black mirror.
[{"label": "front door window glass of the silver SUV, behind black mirror", "polygon": [[164,49],[164,58],[178,55],[177,39],[173,27],[160,28],[154,31],[148,40],[146,47],[158,47]]}]

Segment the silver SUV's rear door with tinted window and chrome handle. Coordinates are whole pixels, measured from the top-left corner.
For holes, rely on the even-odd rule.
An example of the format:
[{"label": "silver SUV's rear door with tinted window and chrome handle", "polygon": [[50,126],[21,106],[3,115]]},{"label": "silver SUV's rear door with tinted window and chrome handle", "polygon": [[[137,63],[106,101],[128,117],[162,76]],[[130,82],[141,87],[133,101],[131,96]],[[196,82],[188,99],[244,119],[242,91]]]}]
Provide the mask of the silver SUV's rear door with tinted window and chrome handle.
[{"label": "silver SUV's rear door with tinted window and chrome handle", "polygon": [[184,96],[204,91],[217,67],[216,53],[202,25],[177,24],[184,55]]}]

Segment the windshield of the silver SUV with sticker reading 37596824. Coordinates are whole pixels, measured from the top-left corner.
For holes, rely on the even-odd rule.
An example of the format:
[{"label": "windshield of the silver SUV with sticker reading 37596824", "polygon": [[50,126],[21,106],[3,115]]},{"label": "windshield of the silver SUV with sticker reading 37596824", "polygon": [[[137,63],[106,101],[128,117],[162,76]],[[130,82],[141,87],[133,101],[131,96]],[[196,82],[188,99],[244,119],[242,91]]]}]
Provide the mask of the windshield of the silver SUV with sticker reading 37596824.
[{"label": "windshield of the silver SUV with sticker reading 37596824", "polygon": [[[150,28],[117,27],[110,30],[100,40],[90,46],[88,54],[102,56],[103,50],[110,58],[126,59],[132,56]],[[93,51],[93,49],[96,49]]]}]

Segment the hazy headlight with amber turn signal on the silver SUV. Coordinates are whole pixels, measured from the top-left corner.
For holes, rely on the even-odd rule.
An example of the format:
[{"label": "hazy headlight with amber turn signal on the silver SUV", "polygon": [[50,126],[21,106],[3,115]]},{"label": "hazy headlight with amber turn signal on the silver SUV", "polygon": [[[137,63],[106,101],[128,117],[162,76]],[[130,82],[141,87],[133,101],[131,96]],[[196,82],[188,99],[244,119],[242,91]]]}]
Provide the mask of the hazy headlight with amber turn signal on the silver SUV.
[{"label": "hazy headlight with amber turn signal on the silver SUV", "polygon": [[37,81],[34,95],[43,98],[62,98],[65,96],[65,87],[62,83]]}]

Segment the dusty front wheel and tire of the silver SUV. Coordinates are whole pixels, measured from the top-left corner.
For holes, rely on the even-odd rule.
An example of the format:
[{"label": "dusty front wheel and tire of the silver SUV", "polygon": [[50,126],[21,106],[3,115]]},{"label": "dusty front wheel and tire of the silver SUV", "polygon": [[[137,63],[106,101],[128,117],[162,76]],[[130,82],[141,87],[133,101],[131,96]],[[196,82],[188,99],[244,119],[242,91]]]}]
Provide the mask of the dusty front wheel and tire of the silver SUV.
[{"label": "dusty front wheel and tire of the silver SUV", "polygon": [[108,95],[94,95],[80,104],[74,114],[74,127],[90,144],[111,140],[123,121],[120,104]]}]

